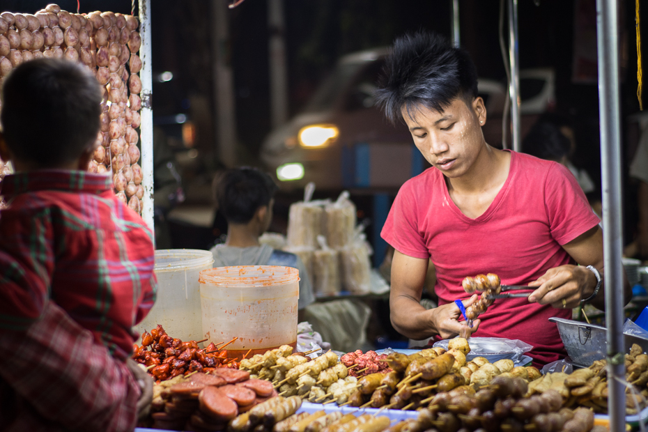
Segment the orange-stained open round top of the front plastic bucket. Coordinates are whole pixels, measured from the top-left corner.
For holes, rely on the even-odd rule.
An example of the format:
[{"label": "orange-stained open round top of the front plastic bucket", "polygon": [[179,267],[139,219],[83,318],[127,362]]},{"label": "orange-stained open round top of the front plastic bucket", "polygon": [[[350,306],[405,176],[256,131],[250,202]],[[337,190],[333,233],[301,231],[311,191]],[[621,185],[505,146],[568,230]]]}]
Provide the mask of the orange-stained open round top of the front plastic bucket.
[{"label": "orange-stained open round top of the front plastic bucket", "polygon": [[299,270],[281,265],[232,265],[200,272],[199,283],[228,287],[285,285],[299,281]]}]

